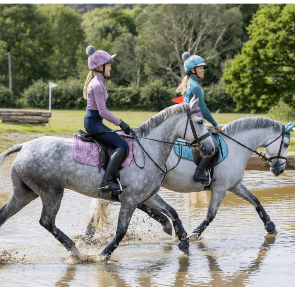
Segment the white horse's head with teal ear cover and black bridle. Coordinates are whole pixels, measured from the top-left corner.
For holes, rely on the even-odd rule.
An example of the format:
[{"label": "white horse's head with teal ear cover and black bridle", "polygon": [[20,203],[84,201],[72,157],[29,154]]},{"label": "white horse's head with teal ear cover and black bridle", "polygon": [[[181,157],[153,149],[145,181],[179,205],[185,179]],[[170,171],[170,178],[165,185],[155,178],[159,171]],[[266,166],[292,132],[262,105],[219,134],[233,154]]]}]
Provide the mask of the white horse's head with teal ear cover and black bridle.
[{"label": "white horse's head with teal ear cover and black bridle", "polygon": [[270,171],[279,176],[286,168],[287,152],[290,145],[290,130],[294,127],[292,122],[286,126],[282,125],[282,133],[278,137],[274,137],[271,142],[264,145],[264,149],[268,155],[271,165]]}]

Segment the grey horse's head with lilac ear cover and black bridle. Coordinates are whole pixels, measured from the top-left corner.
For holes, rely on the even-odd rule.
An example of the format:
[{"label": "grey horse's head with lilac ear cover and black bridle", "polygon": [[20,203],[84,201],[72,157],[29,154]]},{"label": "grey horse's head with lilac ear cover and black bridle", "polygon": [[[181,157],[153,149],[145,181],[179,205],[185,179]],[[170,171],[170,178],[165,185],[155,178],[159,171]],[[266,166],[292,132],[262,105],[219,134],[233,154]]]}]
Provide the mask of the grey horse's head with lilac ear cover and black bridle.
[{"label": "grey horse's head with lilac ear cover and black bridle", "polygon": [[213,155],[215,147],[198,104],[199,98],[195,99],[194,96],[189,103],[189,109],[183,120],[186,124],[182,124],[179,136],[196,145],[202,155],[209,157]]}]

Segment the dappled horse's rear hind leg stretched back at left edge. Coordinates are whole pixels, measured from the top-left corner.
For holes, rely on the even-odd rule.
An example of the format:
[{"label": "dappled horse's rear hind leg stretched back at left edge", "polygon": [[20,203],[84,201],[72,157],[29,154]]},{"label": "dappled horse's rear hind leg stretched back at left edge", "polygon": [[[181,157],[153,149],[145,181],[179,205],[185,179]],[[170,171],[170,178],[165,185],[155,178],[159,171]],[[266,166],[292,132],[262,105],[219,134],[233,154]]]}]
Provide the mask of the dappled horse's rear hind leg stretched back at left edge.
[{"label": "dappled horse's rear hind leg stretched back at left edge", "polygon": [[14,167],[11,169],[13,193],[9,201],[0,208],[0,227],[7,219],[19,212],[24,206],[39,196],[32,191],[17,175]]}]

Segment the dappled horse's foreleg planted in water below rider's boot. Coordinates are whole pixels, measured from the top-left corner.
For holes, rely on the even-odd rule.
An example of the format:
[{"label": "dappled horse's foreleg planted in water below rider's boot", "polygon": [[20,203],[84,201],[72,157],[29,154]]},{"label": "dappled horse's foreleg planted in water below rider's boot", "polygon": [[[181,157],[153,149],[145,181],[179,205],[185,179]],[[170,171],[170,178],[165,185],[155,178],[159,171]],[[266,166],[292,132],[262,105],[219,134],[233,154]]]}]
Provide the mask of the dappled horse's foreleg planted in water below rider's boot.
[{"label": "dappled horse's foreleg planted in water below rider's boot", "polygon": [[115,237],[106,245],[104,250],[100,253],[103,256],[110,257],[114,250],[118,247],[119,242],[123,240],[126,235],[130,219],[136,209],[137,204],[134,202],[123,201],[118,215],[118,225]]}]

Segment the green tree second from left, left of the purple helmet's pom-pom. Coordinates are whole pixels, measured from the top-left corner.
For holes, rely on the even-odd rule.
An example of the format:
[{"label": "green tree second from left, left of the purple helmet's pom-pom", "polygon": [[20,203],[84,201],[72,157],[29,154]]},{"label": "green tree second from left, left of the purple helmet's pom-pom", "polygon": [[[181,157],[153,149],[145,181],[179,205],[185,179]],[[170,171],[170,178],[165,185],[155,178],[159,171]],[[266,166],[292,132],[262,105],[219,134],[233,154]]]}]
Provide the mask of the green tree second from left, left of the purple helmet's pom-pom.
[{"label": "green tree second from left, left of the purple helmet's pom-pom", "polygon": [[40,10],[49,17],[54,36],[51,75],[54,79],[75,76],[77,50],[85,39],[81,15],[64,4],[45,4]]}]

